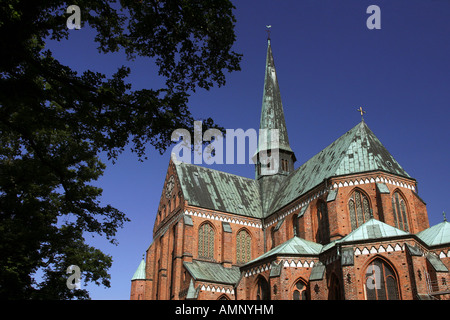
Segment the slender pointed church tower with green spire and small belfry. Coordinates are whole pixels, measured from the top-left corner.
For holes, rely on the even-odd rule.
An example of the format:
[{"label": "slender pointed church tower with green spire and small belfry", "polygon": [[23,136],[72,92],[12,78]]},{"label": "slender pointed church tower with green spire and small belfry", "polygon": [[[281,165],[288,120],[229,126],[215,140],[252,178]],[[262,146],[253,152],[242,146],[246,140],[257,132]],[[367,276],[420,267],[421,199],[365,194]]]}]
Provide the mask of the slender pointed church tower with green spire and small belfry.
[{"label": "slender pointed church tower with green spire and small belfry", "polygon": [[296,158],[289,146],[270,38],[267,40],[266,73],[259,129],[255,178],[260,180],[273,175],[284,177],[293,172]]}]

